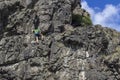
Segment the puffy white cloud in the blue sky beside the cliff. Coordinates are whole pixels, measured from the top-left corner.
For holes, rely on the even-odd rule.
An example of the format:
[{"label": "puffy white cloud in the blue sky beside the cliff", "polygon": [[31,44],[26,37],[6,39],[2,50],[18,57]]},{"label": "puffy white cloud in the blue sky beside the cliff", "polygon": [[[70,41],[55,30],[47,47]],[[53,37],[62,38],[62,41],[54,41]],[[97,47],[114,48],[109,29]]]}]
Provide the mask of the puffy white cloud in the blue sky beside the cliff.
[{"label": "puffy white cloud in the blue sky beside the cliff", "polygon": [[101,24],[120,31],[120,4],[116,6],[107,4],[102,11],[97,11],[97,7],[91,8],[84,0],[82,2],[82,8],[91,14],[93,24]]}]

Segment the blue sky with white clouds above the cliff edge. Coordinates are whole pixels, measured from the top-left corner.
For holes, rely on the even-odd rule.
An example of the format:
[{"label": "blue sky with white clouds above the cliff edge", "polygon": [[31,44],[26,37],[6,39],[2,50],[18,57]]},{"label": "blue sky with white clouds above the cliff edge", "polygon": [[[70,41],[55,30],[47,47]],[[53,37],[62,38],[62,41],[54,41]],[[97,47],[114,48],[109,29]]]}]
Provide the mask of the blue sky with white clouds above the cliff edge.
[{"label": "blue sky with white clouds above the cliff edge", "polygon": [[93,24],[120,31],[120,0],[82,0],[81,4],[91,14]]}]

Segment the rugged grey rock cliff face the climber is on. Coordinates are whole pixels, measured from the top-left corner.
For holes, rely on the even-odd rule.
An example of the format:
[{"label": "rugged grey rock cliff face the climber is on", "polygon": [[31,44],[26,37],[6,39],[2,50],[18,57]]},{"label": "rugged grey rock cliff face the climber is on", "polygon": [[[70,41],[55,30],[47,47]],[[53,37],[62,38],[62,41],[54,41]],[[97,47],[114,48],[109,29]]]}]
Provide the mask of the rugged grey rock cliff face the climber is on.
[{"label": "rugged grey rock cliff face the climber is on", "polygon": [[1,0],[0,80],[120,80],[120,33],[73,26],[74,13],[89,16],[79,0]]}]

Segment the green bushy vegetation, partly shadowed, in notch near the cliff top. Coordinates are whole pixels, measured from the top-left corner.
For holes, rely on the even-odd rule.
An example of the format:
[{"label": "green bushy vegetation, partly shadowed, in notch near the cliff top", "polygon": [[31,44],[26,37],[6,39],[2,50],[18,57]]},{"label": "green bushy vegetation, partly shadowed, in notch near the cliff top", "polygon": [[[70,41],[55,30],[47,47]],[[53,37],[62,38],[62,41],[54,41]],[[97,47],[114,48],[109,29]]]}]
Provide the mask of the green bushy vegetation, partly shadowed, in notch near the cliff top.
[{"label": "green bushy vegetation, partly shadowed, in notch near the cliff top", "polygon": [[92,25],[92,21],[89,16],[82,16],[79,14],[72,15],[72,23],[75,25],[82,25],[82,26]]}]

